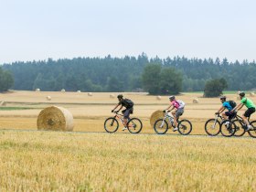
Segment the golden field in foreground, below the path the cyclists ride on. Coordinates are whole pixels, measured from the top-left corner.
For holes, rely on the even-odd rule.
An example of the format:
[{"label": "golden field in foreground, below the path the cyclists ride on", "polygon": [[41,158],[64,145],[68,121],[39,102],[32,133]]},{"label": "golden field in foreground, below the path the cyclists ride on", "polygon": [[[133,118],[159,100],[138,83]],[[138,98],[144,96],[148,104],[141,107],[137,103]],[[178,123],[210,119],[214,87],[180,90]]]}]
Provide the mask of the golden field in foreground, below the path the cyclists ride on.
[{"label": "golden field in foreground, below the path the cyclists ride on", "polygon": [[1,131],[0,191],[255,191],[255,140]]}]

